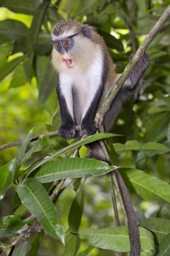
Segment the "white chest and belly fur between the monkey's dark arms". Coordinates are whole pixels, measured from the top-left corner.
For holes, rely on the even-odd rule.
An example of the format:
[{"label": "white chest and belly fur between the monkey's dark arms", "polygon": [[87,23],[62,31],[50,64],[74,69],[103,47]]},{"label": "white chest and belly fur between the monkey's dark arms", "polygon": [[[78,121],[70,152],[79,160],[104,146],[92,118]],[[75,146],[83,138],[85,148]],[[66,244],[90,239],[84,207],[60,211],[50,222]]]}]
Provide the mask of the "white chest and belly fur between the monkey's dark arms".
[{"label": "white chest and belly fur between the monkey's dark arms", "polygon": [[69,69],[60,73],[59,84],[61,93],[65,97],[67,108],[76,124],[80,124],[86,112],[95,100],[95,94],[102,85],[103,59],[94,59],[85,73],[82,67]]}]

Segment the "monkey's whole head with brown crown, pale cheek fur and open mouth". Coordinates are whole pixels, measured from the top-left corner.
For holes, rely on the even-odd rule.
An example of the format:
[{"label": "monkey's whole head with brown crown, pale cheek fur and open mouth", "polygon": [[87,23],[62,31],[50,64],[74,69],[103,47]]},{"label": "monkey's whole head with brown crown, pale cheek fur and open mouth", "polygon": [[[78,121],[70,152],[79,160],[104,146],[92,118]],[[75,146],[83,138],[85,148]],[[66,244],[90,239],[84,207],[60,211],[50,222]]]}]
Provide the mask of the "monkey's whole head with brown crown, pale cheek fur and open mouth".
[{"label": "monkey's whole head with brown crown, pale cheek fur and open mouth", "polygon": [[52,65],[58,72],[84,73],[99,53],[94,29],[76,20],[59,21],[52,28]]}]

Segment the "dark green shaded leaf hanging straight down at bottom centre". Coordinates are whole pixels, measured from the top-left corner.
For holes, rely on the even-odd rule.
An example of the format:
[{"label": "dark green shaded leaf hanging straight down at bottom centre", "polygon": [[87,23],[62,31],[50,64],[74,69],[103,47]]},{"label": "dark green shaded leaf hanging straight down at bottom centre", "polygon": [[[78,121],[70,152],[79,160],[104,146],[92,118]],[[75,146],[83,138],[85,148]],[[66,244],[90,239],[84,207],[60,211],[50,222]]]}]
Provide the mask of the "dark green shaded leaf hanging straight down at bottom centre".
[{"label": "dark green shaded leaf hanging straight down at bottom centre", "polygon": [[84,192],[81,189],[75,196],[70,212],[68,215],[68,225],[69,229],[67,232],[77,231],[81,223],[81,217],[84,208]]}]

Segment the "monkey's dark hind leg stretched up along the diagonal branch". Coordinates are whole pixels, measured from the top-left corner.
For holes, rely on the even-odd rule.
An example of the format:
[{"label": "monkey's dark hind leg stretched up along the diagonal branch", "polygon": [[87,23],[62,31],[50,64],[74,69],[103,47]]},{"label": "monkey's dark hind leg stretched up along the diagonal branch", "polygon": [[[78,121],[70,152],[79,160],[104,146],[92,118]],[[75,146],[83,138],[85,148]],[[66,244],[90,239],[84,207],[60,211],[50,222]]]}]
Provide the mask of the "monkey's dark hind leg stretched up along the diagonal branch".
[{"label": "monkey's dark hind leg stretched up along the diagonal branch", "polygon": [[137,65],[131,71],[130,76],[124,82],[122,88],[111,103],[111,107],[105,114],[105,131],[109,131],[115,123],[123,103],[139,91],[141,86],[140,80],[146,69],[149,67],[149,64],[150,58],[146,53],[144,53],[143,55],[141,55],[139,61],[137,62]]}]

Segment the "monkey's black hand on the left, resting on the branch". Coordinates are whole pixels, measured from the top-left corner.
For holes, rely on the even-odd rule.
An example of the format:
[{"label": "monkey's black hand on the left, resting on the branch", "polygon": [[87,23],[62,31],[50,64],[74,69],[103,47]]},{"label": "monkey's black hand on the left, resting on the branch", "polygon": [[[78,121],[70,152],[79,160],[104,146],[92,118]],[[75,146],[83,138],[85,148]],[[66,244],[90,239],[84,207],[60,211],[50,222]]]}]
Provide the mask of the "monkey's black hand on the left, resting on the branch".
[{"label": "monkey's black hand on the left, resting on the branch", "polygon": [[73,139],[76,135],[75,126],[72,123],[61,124],[58,130],[58,135],[66,140]]}]

